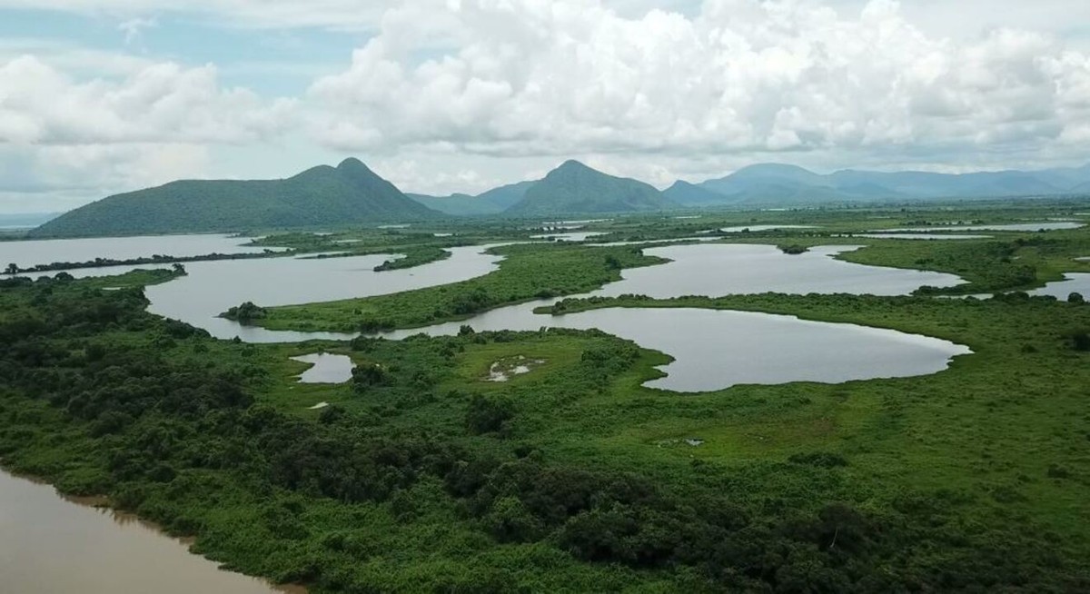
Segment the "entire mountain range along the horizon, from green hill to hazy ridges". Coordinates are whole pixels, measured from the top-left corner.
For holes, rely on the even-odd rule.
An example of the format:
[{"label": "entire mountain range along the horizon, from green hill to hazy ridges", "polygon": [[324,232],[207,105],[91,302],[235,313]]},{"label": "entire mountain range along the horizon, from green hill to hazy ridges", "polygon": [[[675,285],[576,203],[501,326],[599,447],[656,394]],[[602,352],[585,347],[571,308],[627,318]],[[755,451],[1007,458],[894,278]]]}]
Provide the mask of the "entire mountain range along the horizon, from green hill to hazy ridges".
[{"label": "entire mountain range along the horizon, from green hill to hazy ridges", "polygon": [[292,229],[435,220],[446,216],[555,217],[727,205],[1002,198],[1090,194],[1090,165],[964,174],[754,165],[664,192],[641,181],[565,161],[544,179],[471,196],[401,193],[358,159],[284,180],[177,181],[118,194],[45,222],[34,237],[123,235]]}]

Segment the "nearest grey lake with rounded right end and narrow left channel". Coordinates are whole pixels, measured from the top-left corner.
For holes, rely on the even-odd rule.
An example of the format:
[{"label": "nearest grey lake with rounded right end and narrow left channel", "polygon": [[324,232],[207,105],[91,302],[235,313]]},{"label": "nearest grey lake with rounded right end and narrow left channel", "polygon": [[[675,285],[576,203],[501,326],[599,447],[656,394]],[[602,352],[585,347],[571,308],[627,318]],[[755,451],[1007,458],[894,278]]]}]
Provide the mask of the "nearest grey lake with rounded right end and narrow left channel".
[{"label": "nearest grey lake with rounded right end and narrow left channel", "polygon": [[533,308],[542,304],[502,307],[467,322],[378,336],[395,340],[421,332],[452,336],[462,325],[477,331],[597,328],[673,356],[673,363],[661,367],[668,375],[645,386],[678,392],[722,390],[741,384],[929,375],[945,369],[950,357],[971,352],[936,338],[792,316],[685,307],[534,314]]}]

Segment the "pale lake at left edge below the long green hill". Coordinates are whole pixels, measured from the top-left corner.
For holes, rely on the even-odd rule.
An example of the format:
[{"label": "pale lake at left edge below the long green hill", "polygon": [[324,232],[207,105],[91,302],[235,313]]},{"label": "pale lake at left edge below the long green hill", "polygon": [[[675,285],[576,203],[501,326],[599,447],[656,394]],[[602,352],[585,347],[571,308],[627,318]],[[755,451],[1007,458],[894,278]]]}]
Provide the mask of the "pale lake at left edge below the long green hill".
[{"label": "pale lake at left edge below the long green hill", "polygon": [[0,267],[11,263],[21,268],[55,262],[82,263],[97,257],[131,259],[154,255],[186,257],[265,251],[265,247],[243,245],[250,241],[250,238],[223,234],[4,241],[0,242],[0,263],[3,263]]}]

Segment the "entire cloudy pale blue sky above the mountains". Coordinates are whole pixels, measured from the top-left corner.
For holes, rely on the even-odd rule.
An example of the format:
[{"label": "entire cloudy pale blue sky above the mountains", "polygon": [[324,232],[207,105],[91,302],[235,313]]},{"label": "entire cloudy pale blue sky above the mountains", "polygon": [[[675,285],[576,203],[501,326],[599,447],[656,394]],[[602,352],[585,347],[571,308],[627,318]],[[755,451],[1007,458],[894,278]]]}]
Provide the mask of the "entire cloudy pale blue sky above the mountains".
[{"label": "entire cloudy pale blue sky above the mountains", "polygon": [[346,157],[475,194],[1088,148],[1086,0],[0,0],[0,213]]}]

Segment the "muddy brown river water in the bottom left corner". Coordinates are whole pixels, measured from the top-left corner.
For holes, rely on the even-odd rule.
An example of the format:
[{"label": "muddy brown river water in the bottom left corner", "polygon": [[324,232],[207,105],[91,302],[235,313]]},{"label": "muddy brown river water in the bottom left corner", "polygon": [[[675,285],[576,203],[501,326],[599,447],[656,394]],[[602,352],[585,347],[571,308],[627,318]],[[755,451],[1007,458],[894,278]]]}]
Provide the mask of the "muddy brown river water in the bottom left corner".
[{"label": "muddy brown river water in the bottom left corner", "polygon": [[0,471],[0,592],[272,594],[131,516],[65,500]]}]

